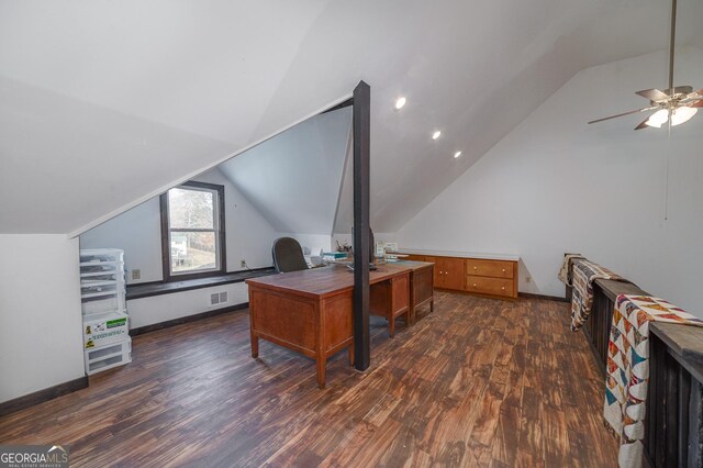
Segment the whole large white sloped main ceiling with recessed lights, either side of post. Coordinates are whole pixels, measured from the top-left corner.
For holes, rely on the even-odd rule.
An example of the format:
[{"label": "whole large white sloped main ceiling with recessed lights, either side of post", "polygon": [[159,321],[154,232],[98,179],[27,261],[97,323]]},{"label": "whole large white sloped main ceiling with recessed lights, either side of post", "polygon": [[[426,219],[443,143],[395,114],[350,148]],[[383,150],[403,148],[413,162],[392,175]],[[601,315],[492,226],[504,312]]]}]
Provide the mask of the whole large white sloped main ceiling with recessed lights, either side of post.
[{"label": "whole large white sloped main ceiling with recessed lights, either side of post", "polygon": [[0,232],[76,234],[360,79],[371,223],[393,232],[576,71],[666,48],[668,19],[661,0],[0,0]]}]

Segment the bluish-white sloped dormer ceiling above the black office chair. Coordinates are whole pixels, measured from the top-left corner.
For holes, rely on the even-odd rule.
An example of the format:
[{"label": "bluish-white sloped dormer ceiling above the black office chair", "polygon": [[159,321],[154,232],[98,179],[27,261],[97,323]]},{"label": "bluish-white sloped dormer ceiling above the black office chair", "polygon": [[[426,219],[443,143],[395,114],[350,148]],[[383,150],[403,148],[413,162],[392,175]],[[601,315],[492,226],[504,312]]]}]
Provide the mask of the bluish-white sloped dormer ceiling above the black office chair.
[{"label": "bluish-white sloped dormer ceiling above the black office chair", "polygon": [[278,232],[332,234],[352,108],[316,115],[220,165]]}]

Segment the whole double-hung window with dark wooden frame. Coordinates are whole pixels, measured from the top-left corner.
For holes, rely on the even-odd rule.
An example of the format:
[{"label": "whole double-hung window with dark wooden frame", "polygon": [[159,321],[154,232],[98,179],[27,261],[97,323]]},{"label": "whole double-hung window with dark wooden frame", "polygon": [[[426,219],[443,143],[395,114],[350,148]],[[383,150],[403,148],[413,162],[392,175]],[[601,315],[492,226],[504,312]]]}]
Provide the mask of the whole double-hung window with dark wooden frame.
[{"label": "whole double-hung window with dark wooden frame", "polygon": [[186,182],[161,196],[165,281],[225,272],[224,239],[223,186]]}]

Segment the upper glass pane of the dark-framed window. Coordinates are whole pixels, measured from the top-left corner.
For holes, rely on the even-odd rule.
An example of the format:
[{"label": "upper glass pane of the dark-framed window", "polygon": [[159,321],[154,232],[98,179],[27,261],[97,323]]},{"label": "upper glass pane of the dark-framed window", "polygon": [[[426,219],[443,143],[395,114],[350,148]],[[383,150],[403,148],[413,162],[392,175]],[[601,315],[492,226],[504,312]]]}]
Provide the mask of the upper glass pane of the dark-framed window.
[{"label": "upper glass pane of the dark-framed window", "polygon": [[203,190],[170,189],[168,218],[175,229],[214,229],[214,193]]}]

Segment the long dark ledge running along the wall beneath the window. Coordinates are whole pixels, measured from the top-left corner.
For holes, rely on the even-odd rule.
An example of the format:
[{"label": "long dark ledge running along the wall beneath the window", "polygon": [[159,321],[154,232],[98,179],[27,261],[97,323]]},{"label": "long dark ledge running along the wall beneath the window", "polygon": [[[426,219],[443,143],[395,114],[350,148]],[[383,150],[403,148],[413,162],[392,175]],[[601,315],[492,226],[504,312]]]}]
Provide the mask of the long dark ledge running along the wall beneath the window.
[{"label": "long dark ledge running along the wall beneath the window", "polygon": [[224,275],[211,276],[208,278],[183,279],[180,281],[157,281],[137,285],[127,285],[126,299],[150,298],[153,296],[171,294],[175,292],[190,291],[192,289],[212,288],[213,286],[231,285],[234,282],[243,282],[249,278],[258,278],[261,276],[275,275],[276,269],[257,268],[254,270],[233,271]]}]

